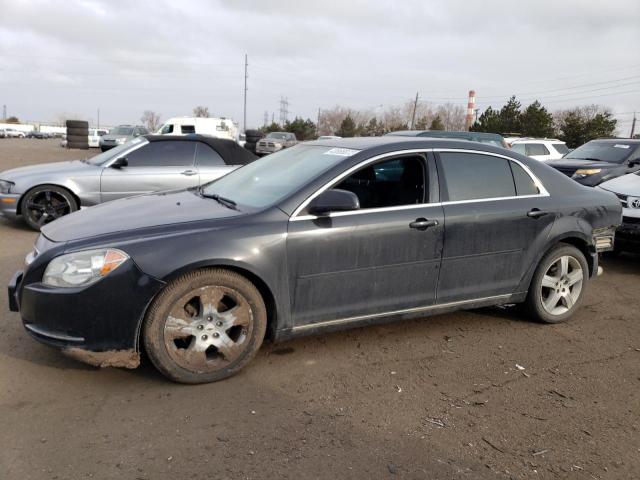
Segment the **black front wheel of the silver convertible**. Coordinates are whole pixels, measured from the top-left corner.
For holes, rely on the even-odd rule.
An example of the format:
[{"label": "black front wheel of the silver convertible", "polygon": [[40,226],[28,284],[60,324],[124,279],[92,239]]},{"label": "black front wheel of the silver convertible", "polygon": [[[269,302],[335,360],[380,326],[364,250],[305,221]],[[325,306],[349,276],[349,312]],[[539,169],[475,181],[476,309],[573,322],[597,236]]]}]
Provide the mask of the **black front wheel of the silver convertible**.
[{"label": "black front wheel of the silver convertible", "polygon": [[78,202],[68,190],[41,185],[29,190],[22,200],[21,213],[34,230],[78,210]]}]

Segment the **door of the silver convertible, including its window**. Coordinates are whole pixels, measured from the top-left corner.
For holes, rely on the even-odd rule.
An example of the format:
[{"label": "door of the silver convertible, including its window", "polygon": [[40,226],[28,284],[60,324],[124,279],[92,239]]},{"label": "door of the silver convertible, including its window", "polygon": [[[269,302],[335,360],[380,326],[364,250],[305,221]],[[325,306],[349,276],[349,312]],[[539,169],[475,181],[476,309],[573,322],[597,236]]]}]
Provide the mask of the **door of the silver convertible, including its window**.
[{"label": "door of the silver convertible, including its window", "polygon": [[158,140],[127,153],[127,166],[103,169],[102,201],[197,186],[195,144],[183,140]]}]

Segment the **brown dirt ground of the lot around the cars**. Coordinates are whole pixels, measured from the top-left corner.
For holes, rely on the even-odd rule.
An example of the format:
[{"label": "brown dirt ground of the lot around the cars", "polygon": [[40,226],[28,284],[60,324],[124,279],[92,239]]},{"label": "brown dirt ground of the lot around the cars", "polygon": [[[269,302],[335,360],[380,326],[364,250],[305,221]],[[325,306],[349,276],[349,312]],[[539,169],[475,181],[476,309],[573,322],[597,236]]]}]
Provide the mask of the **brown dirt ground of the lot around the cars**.
[{"label": "brown dirt ground of the lot around the cars", "polygon": [[[57,143],[0,139],[0,172],[86,155]],[[35,238],[0,219],[2,288]],[[0,478],[640,478],[640,256],[603,266],[565,324],[488,309],[267,344],[200,386],[67,359],[2,295]]]}]

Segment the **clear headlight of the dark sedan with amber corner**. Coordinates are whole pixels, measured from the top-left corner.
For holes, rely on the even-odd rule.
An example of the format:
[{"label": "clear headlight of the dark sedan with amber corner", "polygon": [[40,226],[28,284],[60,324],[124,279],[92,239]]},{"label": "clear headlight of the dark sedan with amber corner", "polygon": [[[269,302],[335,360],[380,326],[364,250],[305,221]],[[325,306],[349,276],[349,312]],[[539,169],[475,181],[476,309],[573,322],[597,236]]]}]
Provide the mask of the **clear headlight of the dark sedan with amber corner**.
[{"label": "clear headlight of the dark sedan with amber corner", "polygon": [[113,248],[61,255],[49,262],[42,283],[53,287],[85,287],[109,275],[128,258],[126,253]]}]

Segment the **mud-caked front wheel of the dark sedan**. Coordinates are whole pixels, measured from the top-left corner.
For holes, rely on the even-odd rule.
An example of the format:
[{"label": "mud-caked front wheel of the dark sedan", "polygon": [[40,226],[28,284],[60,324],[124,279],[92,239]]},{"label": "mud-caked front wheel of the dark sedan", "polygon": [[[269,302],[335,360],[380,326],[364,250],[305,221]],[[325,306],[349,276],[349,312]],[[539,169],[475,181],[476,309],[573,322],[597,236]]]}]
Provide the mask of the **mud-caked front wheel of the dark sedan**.
[{"label": "mud-caked front wheel of the dark sedan", "polygon": [[207,383],[240,371],[267,328],[258,289],[245,277],[211,268],[184,274],[153,301],[143,324],[155,367],[179,383]]}]

